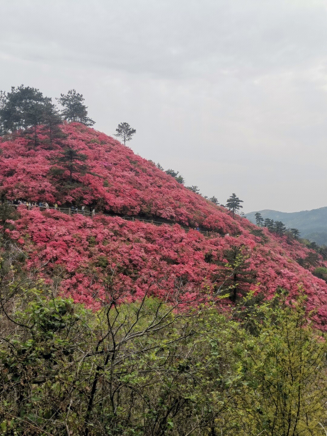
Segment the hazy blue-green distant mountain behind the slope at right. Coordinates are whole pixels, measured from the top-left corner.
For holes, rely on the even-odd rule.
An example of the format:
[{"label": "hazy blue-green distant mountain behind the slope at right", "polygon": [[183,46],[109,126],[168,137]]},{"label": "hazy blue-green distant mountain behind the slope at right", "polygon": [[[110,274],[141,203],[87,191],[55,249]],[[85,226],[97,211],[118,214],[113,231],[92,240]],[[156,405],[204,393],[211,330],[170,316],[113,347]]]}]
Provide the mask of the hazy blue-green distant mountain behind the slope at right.
[{"label": "hazy blue-green distant mountain behind the slope at right", "polygon": [[279,212],[265,209],[249,212],[246,218],[255,224],[255,214],[259,212],[263,218],[282,221],[286,227],[298,228],[301,238],[310,239],[319,245],[327,245],[327,207],[300,212]]}]

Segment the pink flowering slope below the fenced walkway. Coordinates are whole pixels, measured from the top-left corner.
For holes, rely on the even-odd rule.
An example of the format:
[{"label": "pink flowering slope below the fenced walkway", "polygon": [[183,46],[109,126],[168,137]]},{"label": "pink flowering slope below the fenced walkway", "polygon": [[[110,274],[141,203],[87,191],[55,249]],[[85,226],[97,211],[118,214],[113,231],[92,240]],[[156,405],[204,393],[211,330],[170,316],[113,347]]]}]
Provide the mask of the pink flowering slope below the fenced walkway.
[{"label": "pink flowering slope below the fenced walkway", "polygon": [[[155,226],[103,215],[92,219],[54,210],[28,211],[24,206],[19,214],[5,234],[27,254],[25,267],[41,272],[49,282],[57,277],[61,293],[88,307],[99,307],[112,275],[127,301],[145,293],[169,300],[179,288],[185,301],[199,293],[203,298],[214,296],[228,275],[226,253],[239,247],[249,258],[247,269],[254,273],[252,283],[242,284],[242,293],[254,290],[270,298],[280,287],[291,299],[301,287],[309,298],[308,309],[316,310],[316,322],[322,327],[327,322],[327,284],[293,259],[309,252],[298,242],[279,243],[268,233],[264,242],[247,229],[235,237],[207,238],[179,225]],[[223,305],[228,304],[224,300]]]}]

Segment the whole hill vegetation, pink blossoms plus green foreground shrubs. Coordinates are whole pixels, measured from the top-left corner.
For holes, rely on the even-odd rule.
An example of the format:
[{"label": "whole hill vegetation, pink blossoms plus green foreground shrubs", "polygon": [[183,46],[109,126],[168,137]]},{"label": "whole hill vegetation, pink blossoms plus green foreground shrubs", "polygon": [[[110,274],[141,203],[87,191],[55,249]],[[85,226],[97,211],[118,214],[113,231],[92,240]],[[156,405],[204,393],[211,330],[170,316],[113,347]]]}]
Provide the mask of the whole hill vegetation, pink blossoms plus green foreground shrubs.
[{"label": "whole hill vegetation, pink blossoms plus green foreground shrubs", "polygon": [[3,134],[2,434],[325,434],[326,256],[179,177],[81,123]]}]

